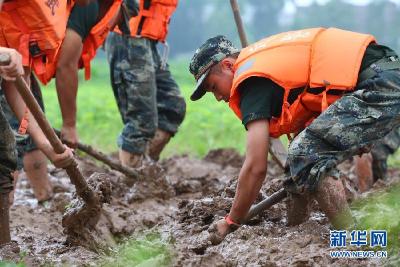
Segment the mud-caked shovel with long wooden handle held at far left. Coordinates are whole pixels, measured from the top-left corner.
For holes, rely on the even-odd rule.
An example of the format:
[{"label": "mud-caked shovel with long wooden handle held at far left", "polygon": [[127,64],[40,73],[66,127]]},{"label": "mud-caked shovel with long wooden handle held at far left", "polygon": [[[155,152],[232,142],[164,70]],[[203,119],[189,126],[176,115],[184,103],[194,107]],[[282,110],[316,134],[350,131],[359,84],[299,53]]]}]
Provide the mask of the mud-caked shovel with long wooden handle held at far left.
[{"label": "mud-caked shovel with long wooden handle held at far left", "polygon": [[[10,57],[8,54],[0,54],[0,65],[8,65],[9,62]],[[54,151],[59,154],[63,153],[65,151],[64,145],[53,131],[53,128],[47,121],[25,80],[21,76],[18,76],[14,83]],[[88,186],[88,183],[78,169],[78,164],[75,159],[69,166],[65,167],[65,171],[70,177],[72,184],[75,186],[76,194],[84,201],[84,205],[80,205],[79,208],[67,211],[62,221],[66,232],[68,234],[73,232],[76,236],[79,235],[79,233],[77,233],[78,227],[94,227],[97,224],[101,214],[102,202],[93,189]],[[107,186],[109,186],[109,183],[106,187]],[[104,189],[104,186],[102,186],[102,188]]]}]

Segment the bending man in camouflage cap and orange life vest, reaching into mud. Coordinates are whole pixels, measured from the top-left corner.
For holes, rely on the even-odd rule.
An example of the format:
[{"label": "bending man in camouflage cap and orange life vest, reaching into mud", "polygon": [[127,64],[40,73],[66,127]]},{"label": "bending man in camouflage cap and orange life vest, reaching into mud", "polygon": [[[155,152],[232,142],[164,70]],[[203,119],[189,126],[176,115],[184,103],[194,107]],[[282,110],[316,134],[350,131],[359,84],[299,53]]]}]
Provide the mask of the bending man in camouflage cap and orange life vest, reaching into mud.
[{"label": "bending man in camouflage cap and orange life vest, reaching into mud", "polygon": [[269,136],[291,140],[288,224],[304,222],[315,198],[335,228],[353,225],[336,166],[400,126],[400,64],[373,36],[336,28],[285,32],[241,51],[223,36],[195,53],[191,96],[225,101],[247,129],[246,159],[224,237],[237,228],[267,173]]}]

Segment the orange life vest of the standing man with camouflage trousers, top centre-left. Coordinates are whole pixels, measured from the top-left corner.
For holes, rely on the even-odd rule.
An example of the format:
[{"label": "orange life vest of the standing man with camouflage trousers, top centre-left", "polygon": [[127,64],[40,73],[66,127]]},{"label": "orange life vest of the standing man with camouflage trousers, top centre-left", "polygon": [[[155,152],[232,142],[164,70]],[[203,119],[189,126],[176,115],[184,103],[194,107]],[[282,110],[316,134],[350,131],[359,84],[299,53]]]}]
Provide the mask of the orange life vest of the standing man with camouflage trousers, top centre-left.
[{"label": "orange life vest of the standing man with camouflage trousers, top centre-left", "polygon": [[131,36],[165,42],[177,5],[178,0],[140,0],[139,14],[129,20]]}]

